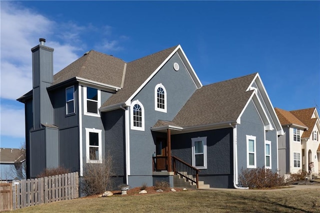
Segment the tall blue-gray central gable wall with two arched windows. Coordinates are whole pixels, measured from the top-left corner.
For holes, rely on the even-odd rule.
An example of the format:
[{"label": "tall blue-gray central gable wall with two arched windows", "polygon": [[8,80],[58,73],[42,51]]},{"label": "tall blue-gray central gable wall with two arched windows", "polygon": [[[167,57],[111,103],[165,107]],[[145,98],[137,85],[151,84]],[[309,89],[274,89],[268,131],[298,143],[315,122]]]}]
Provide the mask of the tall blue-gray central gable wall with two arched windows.
[{"label": "tall blue-gray central gable wall with two arched windows", "polygon": [[[173,63],[179,63],[179,70],[173,69]],[[154,87],[158,83],[166,89],[167,112],[154,109]],[[155,151],[155,144],[149,128],[158,119],[172,120],[183,104],[195,91],[196,86],[187,73],[178,54],[175,53],[153,76],[153,78],[142,88],[132,99],[139,100],[144,107],[144,131],[130,129],[130,186],[139,186],[146,182],[152,184],[152,154]],[[131,113],[131,111],[130,111]],[[131,122],[131,120],[130,120]],[[133,176],[136,176],[133,177]],[[148,177],[146,177],[148,176]]]}]

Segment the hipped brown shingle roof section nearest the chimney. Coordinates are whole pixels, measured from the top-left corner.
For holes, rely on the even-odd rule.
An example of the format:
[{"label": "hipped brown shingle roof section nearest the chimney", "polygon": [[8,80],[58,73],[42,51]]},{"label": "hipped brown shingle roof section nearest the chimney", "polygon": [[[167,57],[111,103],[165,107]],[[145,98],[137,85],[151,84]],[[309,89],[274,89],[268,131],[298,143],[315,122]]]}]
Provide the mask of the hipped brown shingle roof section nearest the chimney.
[{"label": "hipped brown shingle roof section nearest the chimney", "polygon": [[53,76],[52,85],[73,77],[121,87],[125,62],[117,57],[90,50]]}]

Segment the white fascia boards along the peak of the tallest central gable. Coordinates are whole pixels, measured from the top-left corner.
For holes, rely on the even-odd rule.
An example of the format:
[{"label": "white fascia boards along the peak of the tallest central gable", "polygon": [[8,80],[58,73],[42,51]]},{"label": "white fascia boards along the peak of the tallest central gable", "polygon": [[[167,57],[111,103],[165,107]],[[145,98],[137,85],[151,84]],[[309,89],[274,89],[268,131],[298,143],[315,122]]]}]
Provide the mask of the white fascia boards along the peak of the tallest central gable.
[{"label": "white fascia boards along the peak of the tallest central gable", "polygon": [[[150,76],[148,78],[146,78],[146,80],[133,92],[133,94],[125,101],[126,103],[131,102],[132,98],[147,84],[147,82],[149,82],[149,80],[160,70],[160,68],[172,57],[172,55],[177,52],[178,50],[181,51],[181,53],[183,54],[184,58],[187,61],[188,66],[190,67],[190,69],[192,70],[194,76],[196,78],[196,81],[198,82],[198,85],[200,85],[200,87],[202,86],[199,78],[197,77],[197,75],[195,74],[191,64],[189,63],[189,61],[187,60],[180,44],[162,61],[162,63],[152,72],[152,74],[150,74]],[[182,59],[181,59],[182,60]],[[183,61],[183,60],[182,60]],[[184,64],[185,65],[185,64]],[[188,69],[187,69],[188,70]],[[190,73],[189,73],[190,74]],[[192,78],[192,75],[191,75]],[[193,79],[193,78],[192,78]],[[194,81],[194,79],[193,79]],[[197,84],[195,84],[197,85]]]}]

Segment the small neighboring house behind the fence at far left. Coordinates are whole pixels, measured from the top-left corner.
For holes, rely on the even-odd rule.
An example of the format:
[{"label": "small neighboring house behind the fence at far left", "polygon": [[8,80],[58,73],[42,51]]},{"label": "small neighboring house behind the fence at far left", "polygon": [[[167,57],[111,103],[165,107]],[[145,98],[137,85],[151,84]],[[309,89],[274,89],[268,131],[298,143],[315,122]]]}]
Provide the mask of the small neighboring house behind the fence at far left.
[{"label": "small neighboring house behind the fence at far left", "polygon": [[24,150],[19,148],[0,148],[0,180],[10,181],[25,176],[22,163]]}]

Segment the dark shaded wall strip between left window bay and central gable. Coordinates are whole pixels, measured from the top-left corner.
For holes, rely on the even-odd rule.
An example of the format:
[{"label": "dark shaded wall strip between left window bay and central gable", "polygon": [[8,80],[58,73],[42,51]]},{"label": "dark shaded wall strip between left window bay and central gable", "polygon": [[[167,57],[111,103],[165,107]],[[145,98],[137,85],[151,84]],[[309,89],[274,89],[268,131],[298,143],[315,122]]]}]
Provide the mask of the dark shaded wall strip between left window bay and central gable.
[{"label": "dark shaded wall strip between left window bay and central gable", "polygon": [[101,115],[105,130],[105,156],[112,158],[115,185],[126,182],[125,172],[125,132],[124,110],[104,112]]}]

